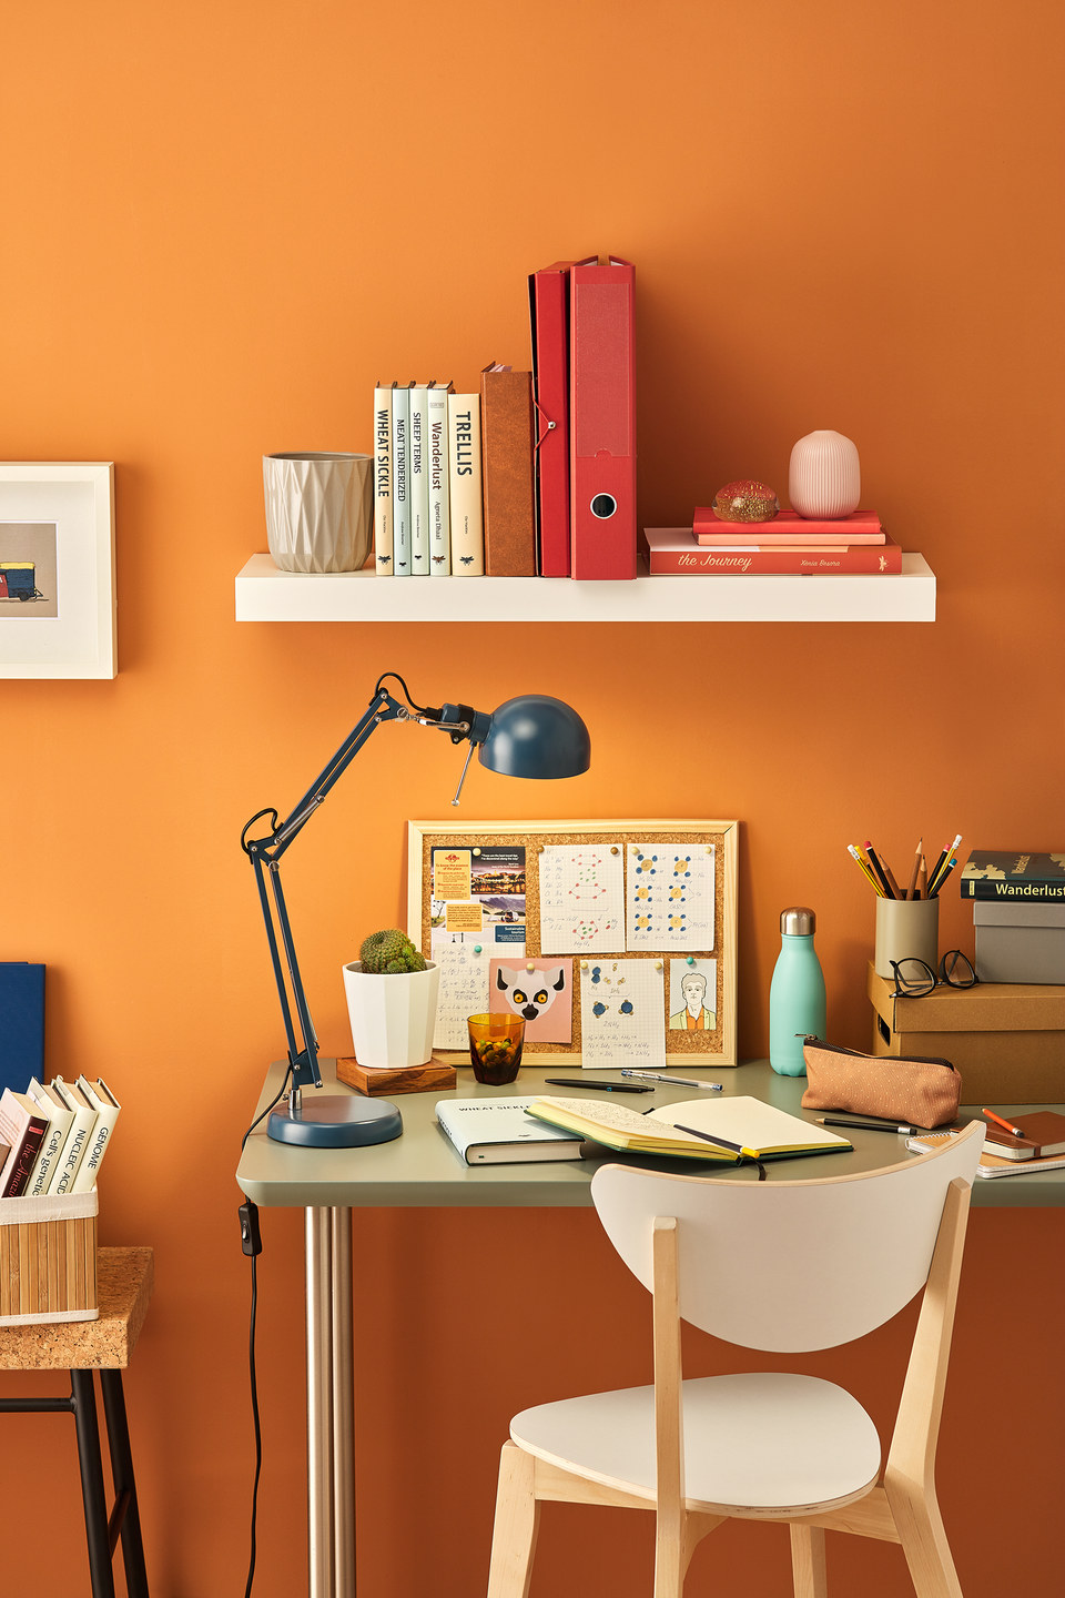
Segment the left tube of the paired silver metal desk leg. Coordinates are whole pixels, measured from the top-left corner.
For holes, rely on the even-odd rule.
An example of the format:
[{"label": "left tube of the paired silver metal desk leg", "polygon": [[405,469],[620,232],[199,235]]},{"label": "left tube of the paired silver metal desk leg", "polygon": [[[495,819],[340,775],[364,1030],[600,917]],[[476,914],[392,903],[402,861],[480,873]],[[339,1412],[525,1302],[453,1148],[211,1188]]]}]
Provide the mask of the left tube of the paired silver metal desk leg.
[{"label": "left tube of the paired silver metal desk leg", "polygon": [[332,1529],[332,1216],[307,1208],[307,1553],[310,1598],[337,1598]]}]

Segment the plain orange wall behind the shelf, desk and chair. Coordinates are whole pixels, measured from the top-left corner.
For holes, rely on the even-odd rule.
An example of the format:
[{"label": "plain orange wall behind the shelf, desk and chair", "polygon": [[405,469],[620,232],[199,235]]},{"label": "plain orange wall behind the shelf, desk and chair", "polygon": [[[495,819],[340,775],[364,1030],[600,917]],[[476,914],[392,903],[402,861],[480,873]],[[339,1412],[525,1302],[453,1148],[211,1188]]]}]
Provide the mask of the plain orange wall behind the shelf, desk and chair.
[{"label": "plain orange wall behind the shelf, desk and chair", "polygon": [[[0,957],[48,962],[48,1069],[104,1072],[126,1104],[101,1227],[156,1250],[129,1377],[156,1598],[224,1598],[246,1558],[232,1173],[281,1029],[238,833],[294,802],[382,670],[584,714],[586,777],[532,791],[476,769],[469,818],[741,818],[746,1055],[794,901],[818,909],[830,1036],[867,1043],[872,900],[846,842],[872,834],[897,866],[920,833],[1062,847],[1060,43],[1049,0],[8,8],[0,447],[115,459],[121,674],[0,684]],[[643,521],[682,523],[734,476],[786,489],[795,438],[835,427],[864,499],[936,569],[939,622],[238,626],[263,451],[367,447],[378,377],[524,364],[525,273],[596,249],[637,264]],[[455,770],[444,740],[385,729],[289,857],[326,1053],[350,1047],[340,964],[402,916],[404,820],[447,813]],[[944,948],[969,946],[953,893],[942,920]],[[279,1598],[303,1568],[300,1216],[263,1230],[259,1593]],[[474,1593],[508,1416],[643,1379],[647,1306],[591,1214],[374,1211],[358,1237],[364,1590]],[[1028,1294],[1019,1325],[1001,1261],[1046,1282],[1060,1238],[1047,1214],[974,1219],[944,1443],[974,1598],[1017,1568],[992,1518],[1049,1580],[1044,1464],[1004,1467],[977,1417],[992,1374],[1043,1411],[1049,1307]],[[899,1336],[849,1357],[873,1406]],[[693,1344],[693,1366],[731,1357]],[[57,1536],[83,1561],[65,1422],[0,1430],[5,1502],[65,1494]],[[592,1590],[586,1529],[600,1590],[647,1592],[647,1526],[560,1509],[535,1593]],[[784,1545],[778,1569],[747,1531],[715,1556],[762,1598]],[[909,1590],[897,1550],[838,1560],[867,1593]]]}]

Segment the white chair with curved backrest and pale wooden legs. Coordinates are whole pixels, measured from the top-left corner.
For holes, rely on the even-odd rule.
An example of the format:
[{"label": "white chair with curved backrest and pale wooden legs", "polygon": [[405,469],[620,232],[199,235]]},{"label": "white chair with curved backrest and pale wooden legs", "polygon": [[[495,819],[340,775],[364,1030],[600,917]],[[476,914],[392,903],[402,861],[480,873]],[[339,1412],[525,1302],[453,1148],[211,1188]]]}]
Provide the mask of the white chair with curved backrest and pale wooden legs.
[{"label": "white chair with curved backrest and pale wooden legs", "polygon": [[[514,1417],[489,1598],[527,1598],[543,1499],[655,1510],[655,1598],[680,1598],[698,1542],[728,1517],[790,1526],[797,1598],[825,1598],[825,1528],[901,1542],[918,1598],[961,1598],[934,1461],[982,1143],[974,1123],[934,1154],[824,1181],[597,1171],[607,1235],[653,1293],[655,1385]],[[921,1288],[883,1480],[873,1422],[833,1382],[682,1381],[682,1318],[747,1349],[830,1349]]]}]

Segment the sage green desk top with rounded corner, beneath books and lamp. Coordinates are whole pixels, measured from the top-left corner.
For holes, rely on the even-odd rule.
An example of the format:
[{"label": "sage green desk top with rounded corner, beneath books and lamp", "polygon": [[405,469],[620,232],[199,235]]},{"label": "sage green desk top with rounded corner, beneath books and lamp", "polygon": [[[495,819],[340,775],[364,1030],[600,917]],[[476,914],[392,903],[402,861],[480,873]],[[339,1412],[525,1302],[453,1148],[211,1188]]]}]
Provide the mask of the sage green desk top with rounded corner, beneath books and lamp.
[{"label": "sage green desk top with rounded corner, beneath books and lamp", "polygon": [[[284,1064],[275,1061],[263,1083],[255,1114],[260,1114],[281,1087]],[[335,1061],[323,1059],[321,1072],[326,1093],[350,1093],[335,1079]],[[551,1069],[556,1074],[556,1069]],[[565,1072],[578,1075],[580,1072]],[[725,1095],[747,1093],[762,1098],[779,1109],[813,1120],[813,1111],[800,1109],[803,1077],[778,1077],[768,1059],[755,1059],[731,1071],[709,1067],[685,1067],[682,1075],[722,1082]],[[404,1093],[394,1099],[404,1131],[393,1143],[380,1143],[369,1149],[297,1149],[267,1138],[267,1123],[247,1139],[236,1170],[243,1192],[260,1205],[591,1205],[591,1178],[599,1165],[620,1157],[610,1149],[602,1159],[559,1160],[543,1165],[482,1165],[476,1170],[465,1165],[447,1141],[436,1120],[434,1106],[442,1098],[516,1098],[533,1093],[576,1095],[576,1088],[548,1088],[543,1085],[548,1071],[524,1069],[517,1082],[505,1088],[487,1088],[474,1082],[473,1071],[460,1067],[458,1085],[450,1093],[434,1088],[430,1093]],[[589,1072],[589,1077],[592,1072]],[[613,1077],[615,1072],[605,1072]],[[313,1090],[310,1090],[313,1091]],[[591,1101],[612,1101],[607,1093],[589,1090]],[[695,1088],[661,1087],[655,1093],[626,1095],[623,1103],[647,1111],[659,1104],[675,1104],[695,1098]],[[1060,1104],[995,1104],[1000,1114],[1014,1115],[1036,1109],[1065,1109]],[[961,1119],[979,1117],[979,1109],[963,1109]],[[813,1155],[803,1160],[776,1160],[765,1167],[768,1181],[797,1181],[802,1178],[841,1176],[845,1171],[873,1171],[899,1159],[920,1159],[905,1147],[905,1138],[883,1131],[853,1131],[853,1154]],[[647,1165],[650,1170],[699,1173],[726,1181],[757,1181],[754,1167],[715,1168],[696,1165],[691,1160],[637,1160],[626,1163]],[[998,1181],[977,1179],[972,1192],[974,1205],[1065,1205],[1065,1170],[1046,1171],[1041,1176],[1008,1176]]]}]

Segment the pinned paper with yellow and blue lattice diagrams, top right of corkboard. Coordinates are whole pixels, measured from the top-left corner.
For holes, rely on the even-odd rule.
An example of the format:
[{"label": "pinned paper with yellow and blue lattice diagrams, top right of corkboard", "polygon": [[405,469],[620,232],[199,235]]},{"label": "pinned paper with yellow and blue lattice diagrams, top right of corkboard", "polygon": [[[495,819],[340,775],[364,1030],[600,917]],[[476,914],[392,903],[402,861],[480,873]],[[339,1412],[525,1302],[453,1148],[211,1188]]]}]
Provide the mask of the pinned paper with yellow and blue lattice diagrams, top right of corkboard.
[{"label": "pinned paper with yellow and blue lattice diagrams, top right of corkboard", "polygon": [[714,844],[629,844],[626,948],[714,948]]}]

